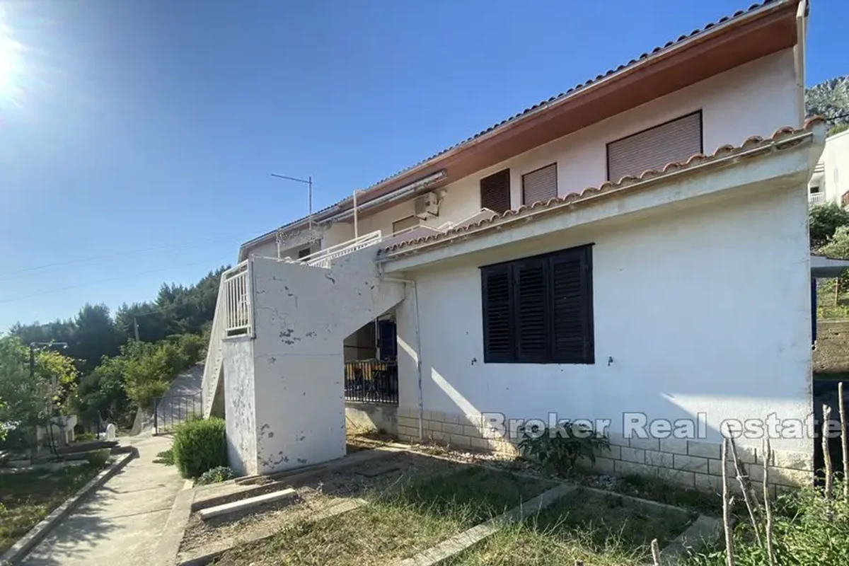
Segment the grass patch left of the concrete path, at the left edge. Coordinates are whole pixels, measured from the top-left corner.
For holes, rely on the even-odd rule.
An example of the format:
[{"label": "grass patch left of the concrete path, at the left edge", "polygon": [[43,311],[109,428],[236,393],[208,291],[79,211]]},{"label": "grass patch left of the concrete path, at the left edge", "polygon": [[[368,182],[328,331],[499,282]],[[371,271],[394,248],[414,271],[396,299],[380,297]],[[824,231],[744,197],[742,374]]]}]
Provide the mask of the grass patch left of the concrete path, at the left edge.
[{"label": "grass patch left of the concrete path, at the left edge", "polygon": [[88,465],[49,474],[0,475],[0,552],[12,546],[99,471],[100,468]]}]

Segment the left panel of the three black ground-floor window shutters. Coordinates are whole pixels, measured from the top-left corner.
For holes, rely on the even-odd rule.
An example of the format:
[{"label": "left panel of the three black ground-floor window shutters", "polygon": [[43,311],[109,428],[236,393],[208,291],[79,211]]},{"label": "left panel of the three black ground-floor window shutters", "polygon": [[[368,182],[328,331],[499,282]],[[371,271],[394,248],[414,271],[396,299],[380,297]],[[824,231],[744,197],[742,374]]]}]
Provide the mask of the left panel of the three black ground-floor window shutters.
[{"label": "left panel of the three black ground-floor window shutters", "polygon": [[513,308],[508,265],[481,269],[484,361],[513,361]]}]

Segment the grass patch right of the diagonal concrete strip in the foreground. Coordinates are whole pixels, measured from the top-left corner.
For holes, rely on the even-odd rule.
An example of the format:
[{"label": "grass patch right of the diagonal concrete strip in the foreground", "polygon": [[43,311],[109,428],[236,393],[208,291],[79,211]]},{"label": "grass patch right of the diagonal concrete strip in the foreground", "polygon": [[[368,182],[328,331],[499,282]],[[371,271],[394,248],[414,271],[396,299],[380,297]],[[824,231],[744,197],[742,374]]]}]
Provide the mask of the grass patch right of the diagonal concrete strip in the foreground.
[{"label": "grass patch right of the diagonal concrete strip in the foreground", "polygon": [[535,517],[503,530],[449,560],[452,566],[597,566],[650,562],[652,539],[665,546],[689,524],[686,512],[644,507],[621,496],[578,490]]}]

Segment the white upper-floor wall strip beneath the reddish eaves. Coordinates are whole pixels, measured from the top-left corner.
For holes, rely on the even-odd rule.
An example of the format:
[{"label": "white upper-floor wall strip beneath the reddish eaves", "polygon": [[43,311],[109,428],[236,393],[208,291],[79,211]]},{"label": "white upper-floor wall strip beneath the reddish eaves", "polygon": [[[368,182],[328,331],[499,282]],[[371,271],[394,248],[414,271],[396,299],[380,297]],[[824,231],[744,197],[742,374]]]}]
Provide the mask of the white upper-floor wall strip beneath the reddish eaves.
[{"label": "white upper-floor wall strip beneath the reddish eaves", "polygon": [[[801,125],[797,94],[793,50],[767,55],[452,182],[447,185],[439,216],[423,223],[438,227],[475,214],[481,209],[481,177],[506,167],[510,169],[513,208],[522,204],[521,176],[554,162],[559,195],[598,187],[606,180],[607,143],[696,110],[702,111],[706,153],[726,143],[738,145],[750,136],[769,137],[780,126]],[[381,230],[389,234],[393,221],[412,214],[412,200],[372,215],[366,213],[359,219],[359,233]],[[324,228],[322,247],[351,238],[351,221],[337,222]]]}]

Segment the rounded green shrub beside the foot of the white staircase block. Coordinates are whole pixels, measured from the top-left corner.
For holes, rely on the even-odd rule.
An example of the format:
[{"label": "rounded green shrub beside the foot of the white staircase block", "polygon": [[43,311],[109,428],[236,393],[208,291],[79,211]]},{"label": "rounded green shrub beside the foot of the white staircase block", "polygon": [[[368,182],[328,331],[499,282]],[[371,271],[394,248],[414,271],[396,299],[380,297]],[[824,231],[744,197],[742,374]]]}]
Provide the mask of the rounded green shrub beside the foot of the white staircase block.
[{"label": "rounded green shrub beside the foot of the white staircase block", "polygon": [[183,478],[197,478],[206,470],[227,466],[224,419],[212,417],[179,425],[171,450]]}]

